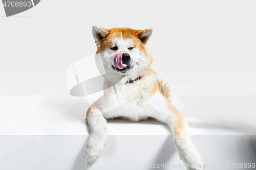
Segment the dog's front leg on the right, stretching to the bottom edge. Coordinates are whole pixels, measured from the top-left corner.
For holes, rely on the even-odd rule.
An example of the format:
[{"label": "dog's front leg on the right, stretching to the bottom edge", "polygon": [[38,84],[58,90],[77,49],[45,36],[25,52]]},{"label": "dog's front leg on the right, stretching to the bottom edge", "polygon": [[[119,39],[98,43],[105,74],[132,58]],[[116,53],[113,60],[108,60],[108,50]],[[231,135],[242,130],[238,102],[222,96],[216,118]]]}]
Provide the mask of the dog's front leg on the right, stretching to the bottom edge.
[{"label": "dog's front leg on the right, stretching to the bottom edge", "polygon": [[190,140],[188,134],[188,124],[185,122],[183,115],[173,106],[172,103],[165,100],[166,108],[162,114],[156,118],[164,122],[173,134],[175,148],[178,151],[184,165],[189,170],[204,169],[204,162],[197,148]]}]

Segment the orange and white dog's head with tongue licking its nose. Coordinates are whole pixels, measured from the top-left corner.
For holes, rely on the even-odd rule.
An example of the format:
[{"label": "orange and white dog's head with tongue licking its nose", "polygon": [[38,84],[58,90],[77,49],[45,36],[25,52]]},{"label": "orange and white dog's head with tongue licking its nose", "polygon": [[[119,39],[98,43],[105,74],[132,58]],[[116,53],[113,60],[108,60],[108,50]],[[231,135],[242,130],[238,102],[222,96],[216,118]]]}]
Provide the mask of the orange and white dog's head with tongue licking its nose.
[{"label": "orange and white dog's head with tongue licking its nose", "polygon": [[[93,26],[93,37],[97,45],[96,64],[101,74],[115,72],[118,75],[140,75],[149,69],[153,61],[145,44],[153,29],[134,30],[130,28],[103,29]],[[103,63],[99,64],[99,62]],[[100,65],[100,66],[99,66]]]}]

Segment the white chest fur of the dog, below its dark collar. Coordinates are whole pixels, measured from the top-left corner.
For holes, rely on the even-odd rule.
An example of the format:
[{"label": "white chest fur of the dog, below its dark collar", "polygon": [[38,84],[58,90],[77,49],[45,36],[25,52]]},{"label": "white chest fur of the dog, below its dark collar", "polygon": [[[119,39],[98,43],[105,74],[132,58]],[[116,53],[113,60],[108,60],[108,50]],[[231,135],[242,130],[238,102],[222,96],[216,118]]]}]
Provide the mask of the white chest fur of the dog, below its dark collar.
[{"label": "white chest fur of the dog, below its dark collar", "polygon": [[148,88],[151,86],[145,86],[144,83],[141,80],[129,84],[120,82],[105,90],[100,99],[101,105],[106,109],[103,110],[104,117],[121,116],[137,121],[159,112],[159,105],[165,104],[163,95],[156,92],[148,98],[151,92]]}]

